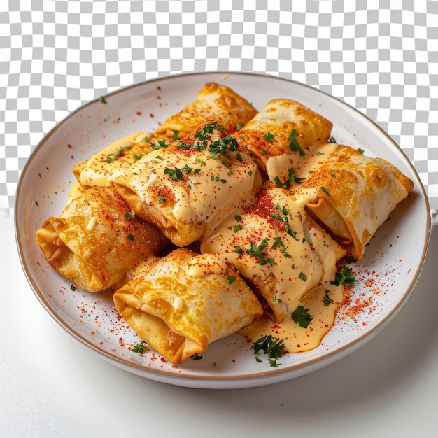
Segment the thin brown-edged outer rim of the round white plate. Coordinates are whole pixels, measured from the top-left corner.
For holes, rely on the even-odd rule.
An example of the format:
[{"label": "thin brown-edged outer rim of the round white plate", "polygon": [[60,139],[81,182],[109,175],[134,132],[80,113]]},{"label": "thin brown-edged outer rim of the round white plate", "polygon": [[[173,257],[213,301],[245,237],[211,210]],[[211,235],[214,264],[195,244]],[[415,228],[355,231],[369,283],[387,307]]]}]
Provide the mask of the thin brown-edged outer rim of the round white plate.
[{"label": "thin brown-edged outer rim of the round white plate", "polygon": [[[34,292],[34,295],[36,295],[38,301],[43,306],[45,311],[49,313],[49,315],[60,325],[66,332],[68,332],[71,336],[73,336],[74,339],[80,342],[80,344],[83,344],[87,348],[89,348],[93,353],[99,355],[99,357],[103,358],[104,360],[107,360],[108,362],[111,362],[111,364],[116,365],[122,369],[125,369],[127,372],[132,372],[134,374],[137,374],[139,376],[153,379],[155,381],[162,381],[164,383],[171,383],[176,384],[178,386],[189,386],[193,388],[243,388],[243,387],[250,387],[254,386],[254,381],[257,380],[257,386],[258,385],[264,385],[264,384],[271,384],[276,383],[278,381],[285,381],[288,379],[292,379],[297,376],[301,376],[303,374],[307,374],[309,372],[316,371],[316,369],[320,369],[322,367],[325,367],[326,365],[329,365],[332,362],[335,362],[341,358],[344,358],[346,355],[351,353],[352,351],[355,351],[355,349],[360,348],[363,344],[365,344],[366,341],[372,339],[376,334],[378,334],[383,327],[386,327],[388,323],[390,323],[390,320],[392,320],[395,315],[400,311],[403,304],[407,301],[409,295],[414,290],[415,285],[418,281],[418,278],[421,275],[421,270],[423,269],[423,265],[425,262],[425,257],[428,251],[428,244],[430,240],[430,232],[431,232],[431,217],[430,217],[430,204],[428,196],[425,192],[425,188],[423,186],[423,183],[421,183],[421,180],[418,176],[418,173],[414,167],[414,164],[411,163],[407,155],[404,153],[404,150],[400,148],[400,146],[395,143],[395,141],[392,139],[392,137],[385,132],[379,125],[376,124],[373,120],[371,120],[367,115],[359,111],[357,108],[351,106],[345,101],[341,101],[337,97],[332,96],[332,94],[329,94],[323,90],[319,90],[317,87],[313,87],[312,85],[308,85],[302,82],[299,82],[297,80],[292,80],[288,78],[282,78],[281,76],[274,76],[271,74],[264,74],[264,73],[254,73],[254,72],[241,72],[241,71],[203,71],[203,72],[190,72],[190,73],[175,73],[171,75],[166,76],[158,76],[156,78],[151,78],[148,80],[145,80],[141,83],[134,83],[132,85],[127,85],[125,87],[120,87],[117,90],[113,90],[112,92],[108,92],[104,95],[105,98],[109,97],[115,97],[120,93],[127,92],[127,90],[134,90],[136,87],[145,86],[148,84],[153,83],[159,83],[163,80],[178,80],[178,78],[181,77],[190,77],[190,76],[209,76],[209,75],[219,75],[219,76],[229,76],[229,75],[238,75],[238,76],[253,76],[253,77],[260,77],[263,79],[272,79],[272,80],[281,80],[285,83],[290,83],[291,85],[299,85],[300,87],[307,87],[313,92],[317,92],[320,94],[323,94],[326,99],[330,99],[330,101],[341,105],[346,106],[348,111],[352,111],[360,118],[363,118],[368,124],[371,124],[373,129],[376,129],[379,131],[379,133],[386,137],[387,141],[393,144],[395,148],[398,149],[398,152],[401,154],[405,164],[409,167],[410,171],[416,176],[416,185],[418,187],[419,192],[421,193],[421,197],[423,202],[425,203],[425,209],[427,210],[428,214],[426,214],[426,229],[425,229],[425,242],[423,244],[423,251],[421,254],[421,260],[419,260],[418,267],[416,267],[416,272],[414,276],[412,277],[412,280],[407,286],[406,291],[404,292],[404,295],[402,298],[397,302],[397,305],[391,309],[390,313],[383,318],[379,323],[376,323],[374,327],[372,327],[372,330],[369,330],[363,334],[361,334],[359,337],[355,337],[351,341],[348,341],[346,344],[343,344],[341,347],[339,347],[335,351],[328,351],[327,353],[324,353],[318,358],[313,358],[310,360],[307,360],[306,362],[302,363],[295,363],[293,365],[288,365],[286,368],[273,368],[269,370],[268,372],[255,372],[251,374],[245,374],[240,375],[236,374],[233,376],[221,376],[218,374],[211,374],[209,376],[200,376],[200,375],[192,375],[192,374],[175,374],[174,372],[168,372],[164,369],[148,369],[147,367],[136,364],[134,362],[130,362],[129,360],[125,358],[115,357],[108,353],[107,351],[104,351],[103,349],[97,348],[97,346],[94,346],[90,341],[85,339],[85,337],[81,336],[78,332],[73,330],[72,327],[69,327],[69,325],[66,323],[65,320],[59,317],[57,313],[50,307],[47,300],[43,296],[43,292],[39,290],[38,285],[36,285],[36,282],[34,281],[34,278],[31,275],[31,270],[27,266],[27,263],[24,258],[24,244],[22,243],[22,238],[20,236],[20,213],[21,213],[21,189],[24,185],[24,180],[27,176],[27,171],[29,171],[29,167],[31,167],[31,163],[34,161],[35,157],[38,155],[38,151],[43,148],[45,143],[50,140],[50,137],[57,132],[57,130],[62,129],[62,126],[69,122],[71,118],[73,118],[74,115],[79,113],[80,111],[83,111],[87,106],[90,106],[92,104],[95,104],[97,101],[99,101],[99,97],[92,99],[91,101],[85,102],[85,104],[82,104],[78,106],[75,110],[71,111],[68,115],[66,115],[62,120],[57,122],[52,129],[48,131],[47,134],[43,135],[42,139],[38,142],[32,153],[29,155],[27,162],[24,164],[24,167],[20,173],[20,178],[17,183],[17,189],[16,189],[16,195],[15,195],[15,209],[14,209],[14,227],[15,227],[15,241],[17,244],[17,251],[20,258],[20,263],[22,265],[22,269],[24,271],[24,274],[27,278],[27,281],[29,285],[31,286],[31,289]],[[304,367],[309,368],[308,370],[303,370]],[[225,385],[224,385],[225,383]]]}]

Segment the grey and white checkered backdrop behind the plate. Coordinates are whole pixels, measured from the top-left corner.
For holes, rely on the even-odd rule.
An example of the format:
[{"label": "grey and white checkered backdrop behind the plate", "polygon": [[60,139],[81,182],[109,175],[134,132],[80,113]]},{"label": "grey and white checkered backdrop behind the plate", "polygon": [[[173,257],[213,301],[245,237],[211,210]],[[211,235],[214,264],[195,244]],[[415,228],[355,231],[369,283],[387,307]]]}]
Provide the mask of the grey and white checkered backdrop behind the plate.
[{"label": "grey and white checkered backdrop behind the plate", "polygon": [[438,1],[0,0],[0,209],[57,122],[192,71],[297,80],[377,122],[438,209]]}]

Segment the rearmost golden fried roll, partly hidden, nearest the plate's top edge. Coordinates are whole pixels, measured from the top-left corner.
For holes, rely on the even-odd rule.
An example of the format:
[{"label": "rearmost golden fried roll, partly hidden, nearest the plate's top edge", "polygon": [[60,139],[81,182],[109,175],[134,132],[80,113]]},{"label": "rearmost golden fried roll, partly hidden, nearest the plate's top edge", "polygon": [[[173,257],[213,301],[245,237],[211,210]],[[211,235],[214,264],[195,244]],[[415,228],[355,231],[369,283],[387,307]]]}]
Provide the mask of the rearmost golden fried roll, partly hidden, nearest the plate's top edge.
[{"label": "rearmost golden fried roll, partly hidden, nearest the plate's top edge", "polygon": [[195,101],[171,115],[155,134],[165,135],[169,139],[175,135],[181,138],[209,120],[216,120],[227,132],[234,132],[256,113],[257,110],[246,99],[229,87],[210,82],[199,90]]}]

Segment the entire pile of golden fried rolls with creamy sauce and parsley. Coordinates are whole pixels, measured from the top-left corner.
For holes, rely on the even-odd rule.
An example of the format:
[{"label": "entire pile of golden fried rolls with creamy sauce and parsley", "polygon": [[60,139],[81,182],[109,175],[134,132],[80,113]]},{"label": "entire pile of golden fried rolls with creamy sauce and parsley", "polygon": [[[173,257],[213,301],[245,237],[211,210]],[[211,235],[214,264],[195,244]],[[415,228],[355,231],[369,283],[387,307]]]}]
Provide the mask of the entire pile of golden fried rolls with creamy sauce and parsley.
[{"label": "entire pile of golden fried rolls with creamy sauce and parsley", "polygon": [[347,258],[363,257],[413,189],[331,130],[297,101],[257,112],[207,83],[155,132],[73,167],[67,206],[36,240],[59,274],[113,292],[120,316],[167,360],[236,332],[308,351],[354,281]]}]

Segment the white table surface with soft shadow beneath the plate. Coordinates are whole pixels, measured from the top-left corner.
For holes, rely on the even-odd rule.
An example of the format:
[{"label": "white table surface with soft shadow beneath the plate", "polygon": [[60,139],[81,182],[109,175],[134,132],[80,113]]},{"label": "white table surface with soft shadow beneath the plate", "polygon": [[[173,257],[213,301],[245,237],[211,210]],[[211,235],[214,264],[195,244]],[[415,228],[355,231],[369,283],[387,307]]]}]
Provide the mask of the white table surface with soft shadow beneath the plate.
[{"label": "white table surface with soft shadow beneath the plate", "polygon": [[24,276],[0,219],[0,437],[436,437],[438,227],[418,283],[365,346],[260,388],[197,390],[129,374],[73,339]]}]

